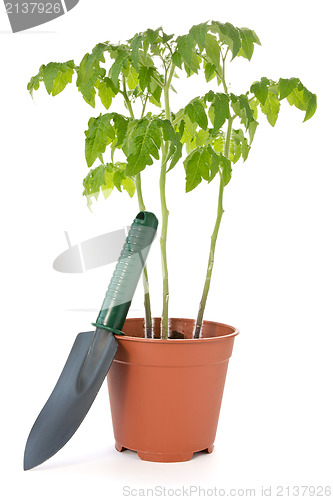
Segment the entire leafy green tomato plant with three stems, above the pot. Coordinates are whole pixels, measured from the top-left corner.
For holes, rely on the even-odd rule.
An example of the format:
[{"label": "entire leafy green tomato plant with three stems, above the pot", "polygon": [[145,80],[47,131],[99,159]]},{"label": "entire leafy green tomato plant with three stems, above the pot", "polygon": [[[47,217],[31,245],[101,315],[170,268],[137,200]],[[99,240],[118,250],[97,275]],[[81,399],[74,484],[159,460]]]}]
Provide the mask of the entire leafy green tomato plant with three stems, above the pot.
[{"label": "entire leafy green tomato plant with three stems, above the pot", "polygon": [[[83,194],[89,205],[100,192],[107,197],[115,187],[130,196],[136,191],[140,210],[145,210],[141,173],[160,160],[163,338],[168,337],[169,316],[167,173],[183,161],[186,192],[202,181],[219,182],[207,273],[193,334],[199,338],[223,215],[223,191],[231,180],[233,165],[248,158],[259,113],[274,127],[281,101],[304,111],[304,121],[316,111],[316,95],[295,77],[262,77],[240,95],[231,92],[226,84],[227,64],[237,57],[251,61],[255,45],[261,43],[253,30],[219,21],[195,25],[177,37],[162,28],[147,29],[124,43],[99,43],[78,65],[73,60],[42,65],[28,84],[32,93],[44,82],[47,92],[55,96],[75,75],[76,86],[90,106],[95,107],[97,96],[106,110],[118,99],[124,102],[126,115],[112,111],[88,122],[85,157],[90,170],[83,180]],[[183,107],[171,110],[170,92],[175,90],[176,78],[199,73],[205,76],[206,91],[190,102],[184,95]],[[146,336],[151,337],[146,268],[144,287]]]}]

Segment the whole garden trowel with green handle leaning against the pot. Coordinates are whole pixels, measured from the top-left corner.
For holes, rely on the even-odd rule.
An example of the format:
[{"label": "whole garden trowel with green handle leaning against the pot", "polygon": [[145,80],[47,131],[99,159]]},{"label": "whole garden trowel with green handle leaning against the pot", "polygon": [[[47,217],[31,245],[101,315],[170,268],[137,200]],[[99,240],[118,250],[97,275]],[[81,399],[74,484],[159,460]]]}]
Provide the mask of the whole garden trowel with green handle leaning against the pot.
[{"label": "whole garden trowel with green handle leaning against the pot", "polygon": [[25,447],[24,469],[52,457],[73,436],[88,413],[117,351],[121,329],[154,240],[153,213],[134,219],[114,270],[95,331],[79,333],[59,380],[34,423]]}]

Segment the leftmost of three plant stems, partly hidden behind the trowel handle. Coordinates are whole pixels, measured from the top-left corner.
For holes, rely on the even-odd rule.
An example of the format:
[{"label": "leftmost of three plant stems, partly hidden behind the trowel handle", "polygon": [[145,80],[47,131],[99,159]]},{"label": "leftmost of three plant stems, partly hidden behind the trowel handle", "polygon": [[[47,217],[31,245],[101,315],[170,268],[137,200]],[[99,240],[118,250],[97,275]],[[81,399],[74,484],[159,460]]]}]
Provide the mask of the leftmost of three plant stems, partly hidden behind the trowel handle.
[{"label": "leftmost of three plant stems, partly hidden behind the trowel handle", "polygon": [[[129,111],[129,114],[131,115],[131,118],[134,118],[134,112],[132,108],[131,101],[128,98],[127,90],[126,90],[126,80],[125,76],[123,75],[123,96],[124,100],[127,106],[127,109]],[[147,96],[148,98],[148,96]],[[147,99],[144,104],[144,108],[142,111],[142,115],[144,114],[144,109],[146,107]],[[146,210],[146,206],[143,202],[143,196],[142,196],[142,188],[141,188],[141,175],[138,173],[135,176],[135,186],[136,186],[136,192],[138,196],[138,202],[139,202],[139,209],[140,211]],[[146,338],[152,338],[153,336],[153,321],[152,321],[152,315],[151,315],[151,304],[150,304],[150,293],[149,293],[149,280],[148,280],[148,269],[147,265],[145,265],[142,273],[142,284],[143,284],[143,293],[144,293],[144,307],[145,307],[145,337]]]}]

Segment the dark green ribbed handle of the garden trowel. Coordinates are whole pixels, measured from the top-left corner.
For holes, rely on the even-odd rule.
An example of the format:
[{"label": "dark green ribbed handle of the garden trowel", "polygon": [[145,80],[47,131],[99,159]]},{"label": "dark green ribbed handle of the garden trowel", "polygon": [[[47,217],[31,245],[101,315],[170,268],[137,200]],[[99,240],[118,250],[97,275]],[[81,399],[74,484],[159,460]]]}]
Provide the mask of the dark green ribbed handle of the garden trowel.
[{"label": "dark green ribbed handle of the garden trowel", "polygon": [[156,235],[158,220],[151,212],[135,217],[97,317],[97,328],[121,333],[128,309]]}]

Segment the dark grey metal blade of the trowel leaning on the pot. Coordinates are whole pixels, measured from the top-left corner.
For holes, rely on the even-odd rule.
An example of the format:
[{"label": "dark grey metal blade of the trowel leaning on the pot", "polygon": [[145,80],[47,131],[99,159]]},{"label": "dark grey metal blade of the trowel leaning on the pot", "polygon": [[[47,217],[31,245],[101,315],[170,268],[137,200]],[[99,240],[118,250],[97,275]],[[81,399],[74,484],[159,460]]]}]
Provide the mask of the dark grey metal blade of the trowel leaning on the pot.
[{"label": "dark grey metal blade of the trowel leaning on the pot", "polygon": [[73,436],[88,413],[117,351],[111,332],[79,333],[53,392],[34,423],[24,470],[45,462]]}]

